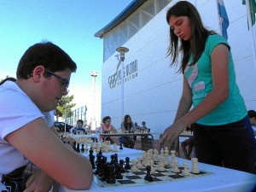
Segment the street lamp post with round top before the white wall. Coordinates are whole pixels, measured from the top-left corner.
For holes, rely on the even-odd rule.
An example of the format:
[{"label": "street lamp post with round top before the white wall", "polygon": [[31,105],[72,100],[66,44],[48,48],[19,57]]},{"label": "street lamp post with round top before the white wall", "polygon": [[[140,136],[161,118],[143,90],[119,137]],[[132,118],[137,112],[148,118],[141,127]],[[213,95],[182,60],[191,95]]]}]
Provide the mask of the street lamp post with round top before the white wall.
[{"label": "street lamp post with round top before the white wall", "polygon": [[125,53],[129,51],[126,47],[119,47],[116,49],[117,52],[120,53],[120,61],[121,61],[121,119],[124,118],[124,83],[125,83],[125,71],[124,71],[124,61],[125,61]]}]

